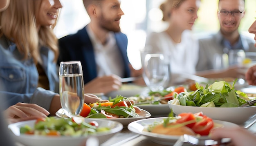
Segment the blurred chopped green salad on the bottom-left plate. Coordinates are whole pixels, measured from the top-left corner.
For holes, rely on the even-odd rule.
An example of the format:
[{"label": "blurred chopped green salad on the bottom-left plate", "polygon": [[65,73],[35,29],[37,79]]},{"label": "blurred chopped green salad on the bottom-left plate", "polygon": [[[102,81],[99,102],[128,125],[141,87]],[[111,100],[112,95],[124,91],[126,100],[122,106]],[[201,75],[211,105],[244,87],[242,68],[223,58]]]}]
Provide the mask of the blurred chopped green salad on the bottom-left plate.
[{"label": "blurred chopped green salad on the bottom-left plate", "polygon": [[20,127],[21,134],[43,136],[72,136],[80,137],[97,132],[109,131],[108,127],[99,127],[96,121],[85,122],[83,117],[72,118],[38,118],[34,127],[25,125]]}]

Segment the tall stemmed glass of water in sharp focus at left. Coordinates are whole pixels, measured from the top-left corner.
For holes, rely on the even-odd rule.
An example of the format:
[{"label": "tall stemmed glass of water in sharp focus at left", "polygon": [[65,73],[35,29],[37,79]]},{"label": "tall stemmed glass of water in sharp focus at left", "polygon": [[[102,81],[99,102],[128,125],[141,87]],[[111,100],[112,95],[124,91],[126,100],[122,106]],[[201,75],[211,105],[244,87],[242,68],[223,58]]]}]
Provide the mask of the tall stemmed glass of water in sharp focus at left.
[{"label": "tall stemmed glass of water in sharp focus at left", "polygon": [[61,107],[65,115],[68,117],[79,115],[84,102],[81,62],[61,62],[59,78]]}]

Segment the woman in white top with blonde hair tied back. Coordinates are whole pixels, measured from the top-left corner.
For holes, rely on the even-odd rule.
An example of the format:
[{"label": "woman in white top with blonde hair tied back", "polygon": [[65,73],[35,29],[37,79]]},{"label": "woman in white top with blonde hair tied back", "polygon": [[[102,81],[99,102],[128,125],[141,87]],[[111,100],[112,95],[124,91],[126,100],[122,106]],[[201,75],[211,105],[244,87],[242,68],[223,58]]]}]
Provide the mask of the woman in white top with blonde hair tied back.
[{"label": "woman in white top with blonde hair tied back", "polygon": [[169,58],[173,84],[180,82],[180,73],[195,74],[199,49],[191,30],[198,18],[199,4],[200,0],[166,0],[160,9],[168,28],[150,33],[146,39],[145,51],[162,52]]}]

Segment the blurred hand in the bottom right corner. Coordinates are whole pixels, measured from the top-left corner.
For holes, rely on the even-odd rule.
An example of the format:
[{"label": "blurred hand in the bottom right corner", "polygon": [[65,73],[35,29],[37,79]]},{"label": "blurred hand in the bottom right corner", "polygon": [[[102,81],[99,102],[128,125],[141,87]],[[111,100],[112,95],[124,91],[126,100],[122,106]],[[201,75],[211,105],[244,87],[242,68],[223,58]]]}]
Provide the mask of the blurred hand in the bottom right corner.
[{"label": "blurred hand in the bottom right corner", "polygon": [[249,130],[241,127],[214,128],[210,136],[214,140],[221,138],[231,138],[229,146],[254,146],[256,136]]}]

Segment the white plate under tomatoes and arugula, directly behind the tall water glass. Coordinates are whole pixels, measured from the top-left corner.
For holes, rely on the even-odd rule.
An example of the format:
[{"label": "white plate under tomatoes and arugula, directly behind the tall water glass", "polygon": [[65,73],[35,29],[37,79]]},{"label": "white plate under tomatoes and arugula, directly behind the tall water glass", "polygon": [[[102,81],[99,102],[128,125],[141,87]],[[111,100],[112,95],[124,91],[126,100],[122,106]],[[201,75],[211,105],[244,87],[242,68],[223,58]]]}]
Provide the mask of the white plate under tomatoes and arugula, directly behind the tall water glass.
[{"label": "white plate under tomatoes and arugula, directly behind the tall water glass", "polygon": [[[67,117],[63,111],[62,108],[60,108],[57,112],[56,112],[56,116],[58,117]],[[128,117],[128,118],[109,118],[108,120],[111,121],[116,121],[116,122],[120,122],[121,124],[124,125],[124,127],[128,126],[128,124],[130,122],[139,120],[139,119],[146,119],[148,117],[150,117],[151,114],[148,111],[145,111],[144,109],[141,109],[141,113],[139,113],[139,117]],[[88,119],[97,119],[97,118],[88,118]]]}]

